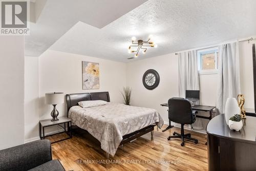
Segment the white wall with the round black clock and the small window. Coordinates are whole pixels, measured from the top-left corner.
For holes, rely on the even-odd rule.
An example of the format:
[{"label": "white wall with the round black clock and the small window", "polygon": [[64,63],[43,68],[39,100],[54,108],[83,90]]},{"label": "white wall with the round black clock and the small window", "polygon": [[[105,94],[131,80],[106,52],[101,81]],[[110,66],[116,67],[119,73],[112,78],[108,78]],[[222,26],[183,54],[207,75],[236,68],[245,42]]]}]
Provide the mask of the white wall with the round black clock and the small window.
[{"label": "white wall with the round black clock and the small window", "polygon": [[[254,108],[253,73],[252,73],[252,43],[240,42],[240,77],[241,93],[245,95],[245,108]],[[148,69],[155,69],[160,75],[159,86],[147,90],[142,84],[142,76]],[[166,109],[160,106],[171,97],[178,97],[178,56],[167,54],[127,63],[127,86],[132,87],[132,104],[158,110],[165,123],[168,123]],[[199,75],[200,103],[216,105],[218,74]],[[209,114],[201,112],[200,115]],[[201,119],[201,118],[200,118]],[[202,119],[203,130],[209,120]]]}]

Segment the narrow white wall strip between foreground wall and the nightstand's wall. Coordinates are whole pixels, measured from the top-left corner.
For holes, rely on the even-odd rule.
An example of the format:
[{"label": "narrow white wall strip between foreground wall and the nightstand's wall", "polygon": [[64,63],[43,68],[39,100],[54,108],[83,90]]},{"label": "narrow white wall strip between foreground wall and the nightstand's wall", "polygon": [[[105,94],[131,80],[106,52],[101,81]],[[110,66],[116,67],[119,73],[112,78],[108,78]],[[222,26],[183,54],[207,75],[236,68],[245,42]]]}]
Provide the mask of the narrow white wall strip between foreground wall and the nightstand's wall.
[{"label": "narrow white wall strip between foreground wall and the nightstand's wall", "polygon": [[25,141],[38,139],[38,57],[25,56],[24,119]]}]

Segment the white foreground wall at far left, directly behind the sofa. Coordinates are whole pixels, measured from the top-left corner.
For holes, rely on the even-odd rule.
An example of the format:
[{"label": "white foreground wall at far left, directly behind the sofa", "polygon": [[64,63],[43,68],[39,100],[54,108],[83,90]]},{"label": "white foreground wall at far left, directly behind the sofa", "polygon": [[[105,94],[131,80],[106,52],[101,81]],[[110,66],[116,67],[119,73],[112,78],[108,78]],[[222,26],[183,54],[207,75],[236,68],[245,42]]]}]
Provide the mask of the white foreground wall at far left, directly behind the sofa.
[{"label": "white foreground wall at far left, directly behind the sofa", "polygon": [[24,36],[0,36],[0,149],[24,143]]}]

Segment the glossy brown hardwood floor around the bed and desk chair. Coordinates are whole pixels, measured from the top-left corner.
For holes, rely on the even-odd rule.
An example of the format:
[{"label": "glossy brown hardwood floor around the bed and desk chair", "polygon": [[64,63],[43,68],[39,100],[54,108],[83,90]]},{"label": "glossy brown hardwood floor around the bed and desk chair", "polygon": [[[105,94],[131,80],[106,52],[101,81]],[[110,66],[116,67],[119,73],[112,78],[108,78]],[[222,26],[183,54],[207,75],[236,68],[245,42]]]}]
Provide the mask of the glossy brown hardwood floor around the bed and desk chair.
[{"label": "glossy brown hardwood floor around the bed and desk chair", "polygon": [[[110,161],[106,160],[98,144],[74,133],[72,139],[52,144],[53,159],[59,159],[66,170],[207,170],[205,134],[185,130],[185,133],[191,133],[191,137],[198,139],[198,144],[186,141],[182,147],[180,139],[167,140],[174,131],[180,132],[180,129],[173,127],[162,132],[155,127],[153,141],[150,133],[143,135],[118,148]],[[49,139],[57,138],[56,135]]]}]

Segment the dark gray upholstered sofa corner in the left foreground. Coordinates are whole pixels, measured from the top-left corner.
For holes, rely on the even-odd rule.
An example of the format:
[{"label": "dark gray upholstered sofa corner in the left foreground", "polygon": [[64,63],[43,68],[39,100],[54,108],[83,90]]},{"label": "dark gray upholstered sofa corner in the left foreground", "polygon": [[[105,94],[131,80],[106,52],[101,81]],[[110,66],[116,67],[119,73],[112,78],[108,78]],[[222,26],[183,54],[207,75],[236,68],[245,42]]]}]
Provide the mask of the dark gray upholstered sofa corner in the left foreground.
[{"label": "dark gray upholstered sofa corner in the left foreground", "polygon": [[38,140],[0,151],[0,170],[64,170],[58,160],[52,160],[51,142]]}]

